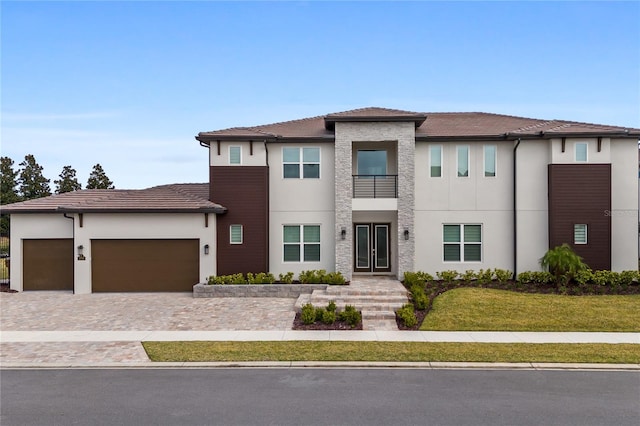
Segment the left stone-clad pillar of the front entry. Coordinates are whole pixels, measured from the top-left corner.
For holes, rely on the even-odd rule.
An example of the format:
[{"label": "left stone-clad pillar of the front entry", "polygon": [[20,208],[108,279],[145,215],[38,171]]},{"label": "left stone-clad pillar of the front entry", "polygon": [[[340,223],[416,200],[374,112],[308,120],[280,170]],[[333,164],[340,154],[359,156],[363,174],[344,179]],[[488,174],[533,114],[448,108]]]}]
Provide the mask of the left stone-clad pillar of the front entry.
[{"label": "left stone-clad pillar of the front entry", "polygon": [[[336,123],[335,133],[335,206],[336,206],[336,271],[347,280],[353,273],[353,197],[352,179],[352,140],[350,132],[341,132],[340,123]],[[342,239],[342,228],[347,236]]]}]

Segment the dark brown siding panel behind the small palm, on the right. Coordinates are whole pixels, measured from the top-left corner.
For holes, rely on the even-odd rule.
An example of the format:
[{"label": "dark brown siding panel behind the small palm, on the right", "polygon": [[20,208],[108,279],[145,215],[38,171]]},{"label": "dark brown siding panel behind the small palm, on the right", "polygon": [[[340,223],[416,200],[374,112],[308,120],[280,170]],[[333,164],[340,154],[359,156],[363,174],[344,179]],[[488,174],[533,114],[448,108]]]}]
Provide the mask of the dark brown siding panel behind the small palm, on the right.
[{"label": "dark brown siding panel behind the small palm, on the right", "polygon": [[[611,165],[549,164],[549,247],[571,245],[591,269],[611,269]],[[573,225],[587,224],[587,244]]]}]

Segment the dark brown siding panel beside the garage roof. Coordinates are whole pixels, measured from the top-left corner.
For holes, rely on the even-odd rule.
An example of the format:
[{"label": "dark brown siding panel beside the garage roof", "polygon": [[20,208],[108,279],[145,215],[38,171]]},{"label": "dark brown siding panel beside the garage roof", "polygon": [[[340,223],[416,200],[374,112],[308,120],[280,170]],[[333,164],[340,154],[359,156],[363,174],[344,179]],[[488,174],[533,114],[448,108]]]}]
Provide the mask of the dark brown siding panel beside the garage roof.
[{"label": "dark brown siding panel beside the garage roof", "polygon": [[[211,200],[227,208],[216,218],[218,275],[268,271],[269,169],[212,166]],[[243,226],[243,243],[230,244],[229,226]]]}]

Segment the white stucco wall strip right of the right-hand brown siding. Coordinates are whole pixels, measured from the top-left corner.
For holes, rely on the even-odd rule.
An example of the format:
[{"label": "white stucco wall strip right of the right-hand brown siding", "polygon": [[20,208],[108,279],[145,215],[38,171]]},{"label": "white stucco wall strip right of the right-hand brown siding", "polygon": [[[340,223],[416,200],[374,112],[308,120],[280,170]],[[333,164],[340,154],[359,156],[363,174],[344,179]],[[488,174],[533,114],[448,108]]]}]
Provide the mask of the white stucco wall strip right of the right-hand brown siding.
[{"label": "white stucco wall strip right of the right-hand brown siding", "polygon": [[638,268],[638,144],[611,140],[611,270]]}]

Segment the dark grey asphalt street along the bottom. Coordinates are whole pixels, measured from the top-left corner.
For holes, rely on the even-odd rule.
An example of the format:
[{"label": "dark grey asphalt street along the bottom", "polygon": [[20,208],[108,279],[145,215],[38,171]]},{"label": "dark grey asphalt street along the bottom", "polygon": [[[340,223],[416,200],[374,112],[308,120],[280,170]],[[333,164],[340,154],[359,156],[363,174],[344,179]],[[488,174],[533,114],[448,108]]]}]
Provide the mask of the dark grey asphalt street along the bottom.
[{"label": "dark grey asphalt street along the bottom", "polygon": [[419,369],[1,370],[0,424],[633,425],[640,373]]}]

